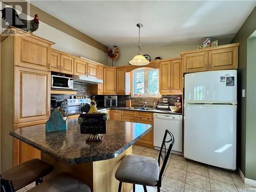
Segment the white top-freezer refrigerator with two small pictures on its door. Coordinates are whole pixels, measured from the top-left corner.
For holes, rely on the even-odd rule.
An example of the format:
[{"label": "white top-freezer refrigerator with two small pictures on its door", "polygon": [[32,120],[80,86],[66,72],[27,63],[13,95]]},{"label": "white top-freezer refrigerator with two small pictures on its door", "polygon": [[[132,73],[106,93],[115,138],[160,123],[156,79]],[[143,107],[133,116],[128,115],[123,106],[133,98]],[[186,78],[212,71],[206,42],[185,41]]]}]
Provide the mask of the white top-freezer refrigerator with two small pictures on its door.
[{"label": "white top-freezer refrigerator with two small pictures on its door", "polygon": [[236,169],[237,70],[185,75],[184,157]]}]

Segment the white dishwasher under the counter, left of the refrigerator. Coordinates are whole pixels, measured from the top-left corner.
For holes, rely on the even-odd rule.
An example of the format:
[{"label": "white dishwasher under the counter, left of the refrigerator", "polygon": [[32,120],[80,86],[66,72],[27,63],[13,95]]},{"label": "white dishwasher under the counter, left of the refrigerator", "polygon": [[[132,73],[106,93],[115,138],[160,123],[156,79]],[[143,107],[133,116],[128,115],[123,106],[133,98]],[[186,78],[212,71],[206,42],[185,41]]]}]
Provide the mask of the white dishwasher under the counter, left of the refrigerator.
[{"label": "white dishwasher under the counter, left of the refrigerator", "polygon": [[[173,150],[182,153],[182,115],[154,113],[154,146],[161,147],[165,130],[174,135]],[[168,148],[169,145],[166,146]]]}]

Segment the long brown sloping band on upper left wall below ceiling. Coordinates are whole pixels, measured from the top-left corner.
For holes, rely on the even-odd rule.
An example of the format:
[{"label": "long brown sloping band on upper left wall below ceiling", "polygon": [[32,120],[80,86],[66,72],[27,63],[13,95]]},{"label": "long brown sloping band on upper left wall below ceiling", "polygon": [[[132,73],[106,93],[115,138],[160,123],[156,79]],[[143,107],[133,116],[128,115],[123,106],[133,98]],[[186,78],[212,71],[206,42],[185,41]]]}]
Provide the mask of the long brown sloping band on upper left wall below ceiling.
[{"label": "long brown sloping band on upper left wall below ceiling", "polygon": [[[18,2],[16,2],[16,3],[10,2],[9,3],[8,1],[4,1],[4,3],[9,6],[12,6],[12,7],[19,5]],[[69,26],[68,24],[57,19],[56,17],[46,13],[45,11],[42,11],[41,9],[33,6],[32,4],[29,4],[29,6],[30,6],[30,11],[29,11],[30,16],[34,17],[35,14],[38,14],[40,22],[44,22],[47,25],[49,25],[55,29],[58,29],[68,35],[71,35],[71,36],[77,38],[78,40],[81,40],[81,41],[85,42],[86,44],[89,44],[90,46],[93,46],[105,53],[108,52],[107,46],[101,44],[100,42],[96,41],[92,37],[89,37],[88,35],[78,31],[77,29]],[[18,8],[18,6],[17,6],[17,8]],[[24,11],[24,10],[19,10],[19,11]],[[24,13],[28,14],[27,11]]]}]

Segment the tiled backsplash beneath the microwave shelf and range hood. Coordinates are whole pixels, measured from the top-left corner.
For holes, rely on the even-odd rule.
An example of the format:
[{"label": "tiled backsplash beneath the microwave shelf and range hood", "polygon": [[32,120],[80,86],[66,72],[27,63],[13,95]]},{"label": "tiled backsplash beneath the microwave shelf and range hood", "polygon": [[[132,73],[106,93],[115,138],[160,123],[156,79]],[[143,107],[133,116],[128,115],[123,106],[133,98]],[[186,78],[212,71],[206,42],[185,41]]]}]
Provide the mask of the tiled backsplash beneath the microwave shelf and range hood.
[{"label": "tiled backsplash beneath the microwave shelf and range hood", "polygon": [[[76,95],[85,95],[87,98],[90,98],[90,84],[84,84],[79,82],[74,82],[74,91],[77,91]],[[64,99],[71,99],[71,95],[58,95],[58,94],[52,94],[52,97],[57,98],[58,100],[62,101]]]}]

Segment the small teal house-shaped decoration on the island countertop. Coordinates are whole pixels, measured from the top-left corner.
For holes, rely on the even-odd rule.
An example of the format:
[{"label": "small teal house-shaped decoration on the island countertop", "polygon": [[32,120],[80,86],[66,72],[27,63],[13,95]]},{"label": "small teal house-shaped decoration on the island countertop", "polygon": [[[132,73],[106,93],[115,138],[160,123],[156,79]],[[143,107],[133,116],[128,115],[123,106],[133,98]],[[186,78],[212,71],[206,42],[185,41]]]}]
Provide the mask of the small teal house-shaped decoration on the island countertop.
[{"label": "small teal house-shaped decoration on the island countertop", "polygon": [[[67,119],[67,117],[64,117]],[[66,131],[68,121],[61,115],[58,108],[56,108],[46,122],[46,132]]]}]

